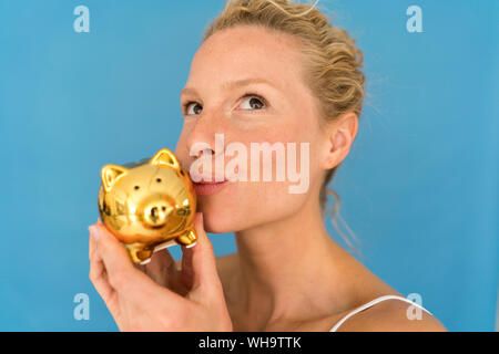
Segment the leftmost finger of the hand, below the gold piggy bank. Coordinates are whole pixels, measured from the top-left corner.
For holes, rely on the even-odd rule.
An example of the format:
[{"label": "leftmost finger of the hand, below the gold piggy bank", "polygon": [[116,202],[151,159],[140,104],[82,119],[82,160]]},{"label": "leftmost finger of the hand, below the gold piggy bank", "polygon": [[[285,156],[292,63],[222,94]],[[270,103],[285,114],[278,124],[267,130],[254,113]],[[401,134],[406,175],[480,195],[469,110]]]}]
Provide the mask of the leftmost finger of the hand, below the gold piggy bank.
[{"label": "leftmost finger of the hand, below the gold piggy bank", "polygon": [[[102,225],[95,225],[96,250],[108,273],[111,287],[118,292],[118,296],[126,298],[135,303],[149,305],[144,299],[157,296],[157,289],[147,275],[135,269],[129,253],[121,242]],[[173,292],[162,294],[164,301],[174,303]]]}]

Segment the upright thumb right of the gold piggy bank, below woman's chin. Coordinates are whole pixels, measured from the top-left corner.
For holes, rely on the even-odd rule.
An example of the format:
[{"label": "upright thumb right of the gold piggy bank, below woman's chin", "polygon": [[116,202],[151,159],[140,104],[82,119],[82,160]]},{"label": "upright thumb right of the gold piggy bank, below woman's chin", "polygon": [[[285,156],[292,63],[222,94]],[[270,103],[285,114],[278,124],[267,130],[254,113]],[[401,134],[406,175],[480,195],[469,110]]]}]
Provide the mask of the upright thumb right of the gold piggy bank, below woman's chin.
[{"label": "upright thumb right of the gold piggy bank, below woman's chin", "polygon": [[203,226],[203,214],[194,218],[197,241],[193,247],[182,246],[182,270],[193,277],[193,288],[203,287],[218,291],[221,289],[213,244]]}]

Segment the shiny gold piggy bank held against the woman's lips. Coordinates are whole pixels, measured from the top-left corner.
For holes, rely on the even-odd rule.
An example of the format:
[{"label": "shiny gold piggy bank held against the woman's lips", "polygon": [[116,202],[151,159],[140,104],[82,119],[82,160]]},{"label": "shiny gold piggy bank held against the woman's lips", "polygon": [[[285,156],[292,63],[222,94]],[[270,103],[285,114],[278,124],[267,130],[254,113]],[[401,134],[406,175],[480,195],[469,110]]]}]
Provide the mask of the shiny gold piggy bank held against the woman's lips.
[{"label": "shiny gold piggy bank held against the woman's lips", "polygon": [[170,149],[139,163],[105,165],[101,179],[101,220],[135,263],[146,262],[165,247],[196,242],[196,194]]}]

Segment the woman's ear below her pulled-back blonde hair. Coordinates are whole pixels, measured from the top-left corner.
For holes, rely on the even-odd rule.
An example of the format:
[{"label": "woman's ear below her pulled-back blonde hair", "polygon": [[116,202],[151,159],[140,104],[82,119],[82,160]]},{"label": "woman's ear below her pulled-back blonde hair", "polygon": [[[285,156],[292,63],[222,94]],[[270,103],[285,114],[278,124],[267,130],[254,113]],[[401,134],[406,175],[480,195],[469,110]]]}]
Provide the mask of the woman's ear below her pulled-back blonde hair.
[{"label": "woman's ear below her pulled-back blonde hair", "polygon": [[327,125],[327,155],[325,169],[338,166],[350,152],[358,129],[358,117],[354,112],[347,112]]}]

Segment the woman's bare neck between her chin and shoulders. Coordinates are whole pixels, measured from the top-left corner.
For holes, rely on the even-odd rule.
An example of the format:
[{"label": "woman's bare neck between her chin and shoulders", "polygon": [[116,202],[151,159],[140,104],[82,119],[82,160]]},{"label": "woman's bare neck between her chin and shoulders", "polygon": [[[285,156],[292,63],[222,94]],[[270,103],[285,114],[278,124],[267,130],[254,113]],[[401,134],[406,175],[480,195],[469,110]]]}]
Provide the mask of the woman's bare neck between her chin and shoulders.
[{"label": "woman's bare neck between her chin and shoulders", "polygon": [[255,326],[322,316],[345,287],[345,251],[328,236],[318,204],[272,223],[235,233],[237,308]]}]

